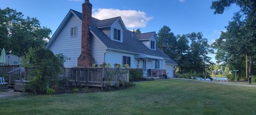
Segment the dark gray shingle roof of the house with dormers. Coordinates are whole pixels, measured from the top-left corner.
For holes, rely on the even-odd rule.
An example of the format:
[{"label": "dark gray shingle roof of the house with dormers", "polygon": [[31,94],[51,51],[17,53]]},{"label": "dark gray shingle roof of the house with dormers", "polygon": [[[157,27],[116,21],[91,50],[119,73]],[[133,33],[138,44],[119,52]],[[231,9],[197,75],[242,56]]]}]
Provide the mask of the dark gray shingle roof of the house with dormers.
[{"label": "dark gray shingle roof of the house with dormers", "polygon": [[[74,10],[73,10],[74,11]],[[82,13],[74,11],[77,17],[79,17],[82,20]],[[90,30],[101,40],[103,44],[105,44],[108,48],[112,48],[115,50],[121,50],[121,51],[127,51],[127,52],[133,52],[138,54],[147,54],[147,55],[154,55],[164,58],[169,58],[171,64],[177,64],[175,63],[168,55],[166,55],[163,51],[156,48],[156,51],[150,50],[146,45],[141,43],[138,39],[142,38],[148,38],[149,36],[153,36],[155,32],[148,32],[145,34],[136,34],[132,31],[124,31],[124,38],[123,43],[116,42],[114,40],[111,40],[104,32],[102,32],[97,27],[102,26],[109,26],[108,24],[114,23],[116,20],[120,19],[120,17],[111,18],[107,20],[98,20],[93,18],[93,25],[90,26]],[[110,24],[110,25],[111,25]],[[149,37],[149,38],[150,38]],[[169,61],[168,60],[168,61]]]}]

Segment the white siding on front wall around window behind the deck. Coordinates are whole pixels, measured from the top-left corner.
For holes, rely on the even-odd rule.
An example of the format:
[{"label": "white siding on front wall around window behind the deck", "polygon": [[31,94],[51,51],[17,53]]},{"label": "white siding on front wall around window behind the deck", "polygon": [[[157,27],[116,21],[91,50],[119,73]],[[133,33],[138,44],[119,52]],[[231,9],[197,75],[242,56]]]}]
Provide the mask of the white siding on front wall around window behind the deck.
[{"label": "white siding on front wall around window behind the deck", "polygon": [[106,60],[106,63],[110,63],[111,66],[114,67],[115,63],[123,65],[123,56],[130,56],[131,57],[131,68],[137,68],[138,61],[137,61],[137,59],[134,58],[133,54],[110,51],[110,52],[106,53],[105,60]]}]

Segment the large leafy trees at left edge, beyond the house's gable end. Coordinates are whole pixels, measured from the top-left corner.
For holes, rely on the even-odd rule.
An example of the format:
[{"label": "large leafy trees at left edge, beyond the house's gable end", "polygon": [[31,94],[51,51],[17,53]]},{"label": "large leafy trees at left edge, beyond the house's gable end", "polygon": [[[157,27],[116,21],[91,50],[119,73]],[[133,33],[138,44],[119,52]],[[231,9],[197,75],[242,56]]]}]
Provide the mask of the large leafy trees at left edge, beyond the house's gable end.
[{"label": "large leafy trees at left edge, beyond the house's gable end", "polygon": [[21,12],[9,7],[0,9],[0,45],[7,51],[23,56],[30,47],[44,47],[50,34],[36,18],[23,18]]}]

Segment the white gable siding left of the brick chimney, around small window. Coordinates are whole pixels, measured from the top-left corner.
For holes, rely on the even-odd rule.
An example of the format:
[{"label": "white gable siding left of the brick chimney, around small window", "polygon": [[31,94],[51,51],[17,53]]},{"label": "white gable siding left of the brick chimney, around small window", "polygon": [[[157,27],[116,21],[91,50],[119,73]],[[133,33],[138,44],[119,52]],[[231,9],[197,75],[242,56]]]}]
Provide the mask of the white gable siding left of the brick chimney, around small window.
[{"label": "white gable siding left of the brick chimney, around small window", "polygon": [[[70,28],[72,27],[77,27],[76,37],[70,37]],[[62,53],[70,58],[64,63],[66,68],[77,67],[77,58],[81,54],[81,32],[82,21],[73,15],[49,47],[54,54]]]}]

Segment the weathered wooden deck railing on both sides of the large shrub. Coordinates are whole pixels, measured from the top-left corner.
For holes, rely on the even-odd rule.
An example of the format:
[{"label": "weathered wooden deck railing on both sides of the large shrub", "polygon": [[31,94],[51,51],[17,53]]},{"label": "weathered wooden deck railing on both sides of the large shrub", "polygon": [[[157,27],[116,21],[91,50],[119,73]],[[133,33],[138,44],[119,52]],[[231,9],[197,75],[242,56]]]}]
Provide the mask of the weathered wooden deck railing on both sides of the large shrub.
[{"label": "weathered wooden deck railing on both sides of the large shrub", "polygon": [[[34,69],[20,69],[9,72],[9,85],[13,85],[14,80],[30,80],[34,78]],[[69,85],[97,86],[105,87],[107,82],[113,86],[118,81],[129,81],[129,69],[118,68],[64,68],[59,75],[59,80],[67,82]]]}]

